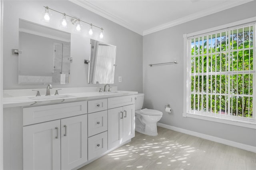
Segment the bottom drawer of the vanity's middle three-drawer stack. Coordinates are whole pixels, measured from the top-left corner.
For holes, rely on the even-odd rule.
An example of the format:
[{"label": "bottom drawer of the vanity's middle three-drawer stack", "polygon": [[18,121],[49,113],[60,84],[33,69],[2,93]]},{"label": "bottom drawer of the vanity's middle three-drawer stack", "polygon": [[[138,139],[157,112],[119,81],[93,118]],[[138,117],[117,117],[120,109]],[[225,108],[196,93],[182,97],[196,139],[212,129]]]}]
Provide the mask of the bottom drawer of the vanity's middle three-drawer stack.
[{"label": "bottom drawer of the vanity's middle three-drawer stack", "polygon": [[88,160],[100,156],[108,150],[107,139],[107,131],[88,138]]}]

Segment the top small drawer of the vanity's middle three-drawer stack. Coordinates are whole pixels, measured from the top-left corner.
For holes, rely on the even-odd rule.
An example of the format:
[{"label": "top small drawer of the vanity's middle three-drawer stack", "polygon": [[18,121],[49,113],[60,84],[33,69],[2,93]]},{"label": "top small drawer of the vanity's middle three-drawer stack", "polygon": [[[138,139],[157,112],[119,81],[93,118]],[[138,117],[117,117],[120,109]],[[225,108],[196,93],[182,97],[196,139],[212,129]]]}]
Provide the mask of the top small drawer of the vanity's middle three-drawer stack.
[{"label": "top small drawer of the vanity's middle three-drawer stack", "polygon": [[88,113],[107,110],[108,109],[107,103],[108,103],[107,99],[88,101]]}]

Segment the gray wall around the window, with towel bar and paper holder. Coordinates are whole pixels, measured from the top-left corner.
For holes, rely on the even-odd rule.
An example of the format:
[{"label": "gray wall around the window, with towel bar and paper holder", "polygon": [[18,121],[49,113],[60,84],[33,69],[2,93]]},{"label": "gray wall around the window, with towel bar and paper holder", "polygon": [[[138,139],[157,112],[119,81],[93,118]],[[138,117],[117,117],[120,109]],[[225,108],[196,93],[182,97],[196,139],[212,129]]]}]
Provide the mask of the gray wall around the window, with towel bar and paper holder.
[{"label": "gray wall around the window, with towel bar and paper holder", "polygon": [[[182,117],[183,113],[183,34],[256,16],[256,1],[205,16],[172,28],[143,36],[144,107],[164,113],[160,123],[184,128],[251,146],[256,146],[256,129]],[[149,67],[148,64],[174,61],[177,65]],[[164,111],[170,104],[172,113]]]}]

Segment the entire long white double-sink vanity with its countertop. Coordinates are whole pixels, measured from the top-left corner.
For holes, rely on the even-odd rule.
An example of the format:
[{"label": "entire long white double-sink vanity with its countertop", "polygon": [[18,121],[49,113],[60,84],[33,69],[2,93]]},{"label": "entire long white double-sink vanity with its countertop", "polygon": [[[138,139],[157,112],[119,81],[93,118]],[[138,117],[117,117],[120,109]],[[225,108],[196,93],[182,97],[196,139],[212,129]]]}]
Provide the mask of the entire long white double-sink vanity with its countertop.
[{"label": "entire long white double-sink vanity with its countertop", "polygon": [[4,98],[4,169],[78,169],[130,142],[136,93]]}]

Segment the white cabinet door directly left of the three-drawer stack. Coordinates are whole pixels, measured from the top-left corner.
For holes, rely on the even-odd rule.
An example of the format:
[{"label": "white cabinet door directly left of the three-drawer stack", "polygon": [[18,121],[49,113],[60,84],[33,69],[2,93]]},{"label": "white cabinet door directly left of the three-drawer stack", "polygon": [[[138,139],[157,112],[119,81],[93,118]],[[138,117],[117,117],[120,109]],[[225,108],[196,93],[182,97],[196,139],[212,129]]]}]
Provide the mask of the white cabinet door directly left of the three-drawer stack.
[{"label": "white cabinet door directly left of the three-drawer stack", "polygon": [[61,169],[87,161],[87,115],[61,119]]}]

